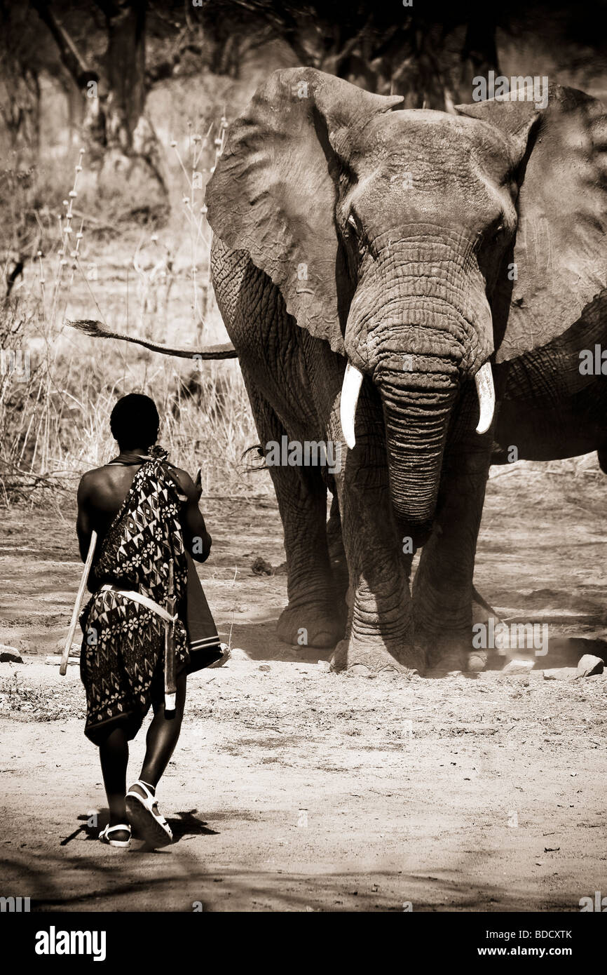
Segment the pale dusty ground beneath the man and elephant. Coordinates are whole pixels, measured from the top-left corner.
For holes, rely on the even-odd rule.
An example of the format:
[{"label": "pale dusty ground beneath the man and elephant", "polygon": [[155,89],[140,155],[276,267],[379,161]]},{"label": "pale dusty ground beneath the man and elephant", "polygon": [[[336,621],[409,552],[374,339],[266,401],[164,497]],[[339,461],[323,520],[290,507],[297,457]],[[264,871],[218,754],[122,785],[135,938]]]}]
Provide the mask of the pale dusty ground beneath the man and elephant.
[{"label": "pale dusty ground beneath the man and elephant", "polygon": [[43,663],[81,571],[73,512],[4,514],[0,640],[29,652],[0,664],[0,893],[40,910],[575,911],[607,892],[607,678],[546,679],[605,655],[607,481],[592,460],[497,475],[476,584],[503,615],[550,623],[522,678],[497,656],[477,677],[326,673],[328,654],[274,636],[285,576],[250,573],[283,562],[274,503],[207,499],[209,603],[246,653],[189,683],[160,791],[178,841],[155,853],[95,841],[77,668]]}]

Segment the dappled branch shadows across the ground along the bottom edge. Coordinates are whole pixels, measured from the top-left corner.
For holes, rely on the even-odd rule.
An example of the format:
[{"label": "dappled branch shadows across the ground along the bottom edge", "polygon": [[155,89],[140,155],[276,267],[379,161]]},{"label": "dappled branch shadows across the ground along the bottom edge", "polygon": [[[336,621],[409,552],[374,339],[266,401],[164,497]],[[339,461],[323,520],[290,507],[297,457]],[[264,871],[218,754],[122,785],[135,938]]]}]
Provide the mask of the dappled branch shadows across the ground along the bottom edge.
[{"label": "dappled branch shadows across the ground along the bottom edge", "polygon": [[[19,860],[0,861],[3,876],[19,876],[15,889],[31,891],[31,909],[47,911],[222,911],[285,912],[426,912],[575,910],[577,899],[565,892],[547,897],[537,887],[518,884],[505,890],[498,884],[475,884],[459,871],[397,873],[290,873],[286,871],[207,869],[192,856],[174,849],[157,851],[145,860],[133,852],[112,850],[104,861],[78,857],[72,863],[79,876],[88,875],[86,890],[65,889],[64,858],[40,857],[34,866]],[[144,864],[162,858],[164,876],[144,876]],[[55,880],[57,878],[57,881]],[[62,878],[63,882],[59,882]],[[11,884],[6,887],[12,896]],[[16,895],[13,895],[16,896]],[[111,908],[104,907],[111,900]],[[195,907],[196,906],[196,907]]]}]

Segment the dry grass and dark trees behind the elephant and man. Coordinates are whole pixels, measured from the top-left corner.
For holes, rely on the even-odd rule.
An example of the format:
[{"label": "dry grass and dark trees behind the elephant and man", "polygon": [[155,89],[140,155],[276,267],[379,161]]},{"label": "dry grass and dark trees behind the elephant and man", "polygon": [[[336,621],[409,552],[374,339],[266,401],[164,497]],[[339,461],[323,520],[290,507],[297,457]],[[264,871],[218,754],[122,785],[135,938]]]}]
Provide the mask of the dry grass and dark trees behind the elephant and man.
[{"label": "dry grass and dark trees behind the elephant and man", "polygon": [[207,492],[270,489],[243,459],[256,435],[237,363],[99,345],[65,323],[193,348],[225,337],[204,186],[226,126],[271,70],[314,65],[409,107],[471,101],[474,76],[489,70],[600,98],[604,13],[602,3],[1,0],[3,502],[73,490],[111,455],[109,410],[133,390],[157,400],[163,443],[175,462],[202,467]]}]

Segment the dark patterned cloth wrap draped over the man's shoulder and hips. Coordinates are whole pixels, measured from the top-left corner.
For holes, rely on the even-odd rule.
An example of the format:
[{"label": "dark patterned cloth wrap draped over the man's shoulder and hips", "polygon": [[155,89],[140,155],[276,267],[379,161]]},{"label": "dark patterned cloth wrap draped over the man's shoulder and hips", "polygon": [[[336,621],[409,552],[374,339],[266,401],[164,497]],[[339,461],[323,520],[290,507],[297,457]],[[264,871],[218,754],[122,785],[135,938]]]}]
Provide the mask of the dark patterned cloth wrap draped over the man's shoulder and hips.
[{"label": "dark patterned cloth wrap draped over the man's shoulder and hips", "polygon": [[179,522],[179,487],[166,463],[167,451],[150,450],[103,542],[89,577],[94,593],[83,609],[80,676],[87,692],[85,734],[98,743],[123,724],[128,738],[141,727],[164,678],[165,623],[146,606],[104,584],[134,589],[167,604],[169,561],[176,597],[174,647],[177,673],[189,663],[184,624],[187,561]]}]

